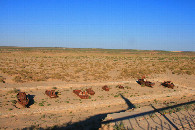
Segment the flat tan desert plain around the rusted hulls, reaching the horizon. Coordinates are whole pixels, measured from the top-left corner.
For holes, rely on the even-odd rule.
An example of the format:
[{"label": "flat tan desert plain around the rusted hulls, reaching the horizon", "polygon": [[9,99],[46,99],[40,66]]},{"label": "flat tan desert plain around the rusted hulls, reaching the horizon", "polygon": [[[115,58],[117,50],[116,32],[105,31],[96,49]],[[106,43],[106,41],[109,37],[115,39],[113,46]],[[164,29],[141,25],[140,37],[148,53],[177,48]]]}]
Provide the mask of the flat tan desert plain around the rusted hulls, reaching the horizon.
[{"label": "flat tan desert plain around the rusted hulls, reaching the horizon", "polygon": [[[0,128],[75,124],[98,129],[107,114],[133,111],[129,103],[142,109],[194,101],[194,75],[195,52],[0,47]],[[136,81],[142,76],[155,85],[139,85]],[[175,87],[162,86],[164,81]],[[110,90],[102,90],[104,85]],[[73,93],[88,88],[95,91],[89,99]],[[58,97],[48,97],[46,90],[55,90]],[[17,103],[19,91],[31,97],[27,108]],[[194,111],[194,104],[190,108]]]}]

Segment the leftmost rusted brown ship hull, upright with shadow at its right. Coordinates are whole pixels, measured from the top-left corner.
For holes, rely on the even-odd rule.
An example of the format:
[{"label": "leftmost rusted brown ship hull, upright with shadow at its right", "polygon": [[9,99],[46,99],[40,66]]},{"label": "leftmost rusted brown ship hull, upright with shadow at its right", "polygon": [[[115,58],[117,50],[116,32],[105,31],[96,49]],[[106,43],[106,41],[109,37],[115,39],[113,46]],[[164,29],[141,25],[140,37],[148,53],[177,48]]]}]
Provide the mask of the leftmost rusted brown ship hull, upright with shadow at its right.
[{"label": "leftmost rusted brown ship hull, upright with shadow at its right", "polygon": [[29,104],[29,99],[26,96],[25,92],[19,92],[17,94],[18,103],[21,104],[23,107],[26,107]]}]

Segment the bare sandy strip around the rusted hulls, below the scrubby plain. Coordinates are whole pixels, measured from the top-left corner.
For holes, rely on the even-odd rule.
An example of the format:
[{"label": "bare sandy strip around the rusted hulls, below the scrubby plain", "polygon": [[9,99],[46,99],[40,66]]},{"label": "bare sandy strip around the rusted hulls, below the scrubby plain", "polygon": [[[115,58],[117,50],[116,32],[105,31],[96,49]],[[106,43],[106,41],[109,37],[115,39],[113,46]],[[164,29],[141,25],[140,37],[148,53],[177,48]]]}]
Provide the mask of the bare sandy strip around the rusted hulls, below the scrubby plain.
[{"label": "bare sandy strip around the rusted hulls, below the scrubby plain", "polygon": [[[141,87],[135,79],[129,81],[113,81],[101,83],[66,83],[62,81],[1,83],[0,86],[0,128],[16,129],[32,125],[46,128],[54,125],[66,126],[91,119],[97,115],[127,110],[128,99],[137,108],[149,104],[179,104],[195,100],[195,77],[189,75],[173,75],[170,73],[153,75],[148,80],[155,82],[153,88]],[[176,85],[174,89],[160,86],[160,82],[171,80]],[[124,90],[116,88],[123,85]],[[103,85],[111,89],[102,90]],[[56,87],[59,97],[50,99],[44,92]],[[16,108],[12,103],[16,99],[13,88],[20,89],[34,96],[34,104],[29,108]],[[90,99],[80,99],[72,91],[74,89],[92,88],[95,91]],[[121,95],[124,97],[122,98]],[[104,117],[105,118],[105,117]]]}]

